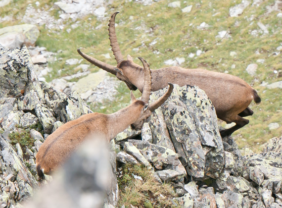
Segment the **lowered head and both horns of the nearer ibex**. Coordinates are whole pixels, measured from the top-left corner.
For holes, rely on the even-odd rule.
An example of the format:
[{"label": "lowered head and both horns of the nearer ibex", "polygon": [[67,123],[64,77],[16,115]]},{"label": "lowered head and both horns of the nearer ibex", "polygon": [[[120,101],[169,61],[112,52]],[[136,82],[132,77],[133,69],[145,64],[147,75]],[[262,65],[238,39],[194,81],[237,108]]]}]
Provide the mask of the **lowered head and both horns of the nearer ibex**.
[{"label": "lowered head and both horns of the nearer ibex", "polygon": [[[138,120],[136,120],[133,124],[131,124],[131,128],[134,130],[140,130],[143,126],[143,123],[145,120],[152,114],[152,112],[157,109],[159,106],[161,106],[171,95],[173,91],[173,84],[169,84],[169,89],[168,91],[160,97],[158,100],[154,101],[151,104],[148,104],[149,99],[150,99],[150,92],[151,92],[151,70],[149,68],[149,64],[141,57],[138,57],[144,67],[144,88],[143,88],[143,93],[141,97],[141,101],[143,102],[143,108],[141,109],[141,114]],[[136,98],[134,97],[132,91],[131,91],[131,102],[135,102]]]}]

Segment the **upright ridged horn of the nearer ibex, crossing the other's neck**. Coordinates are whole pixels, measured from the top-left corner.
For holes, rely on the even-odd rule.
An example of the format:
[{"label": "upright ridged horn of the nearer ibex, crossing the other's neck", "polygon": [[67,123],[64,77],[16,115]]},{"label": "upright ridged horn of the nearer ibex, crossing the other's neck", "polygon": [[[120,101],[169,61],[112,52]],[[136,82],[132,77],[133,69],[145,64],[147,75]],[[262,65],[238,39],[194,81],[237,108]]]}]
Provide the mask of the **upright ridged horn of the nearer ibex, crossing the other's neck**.
[{"label": "upright ridged horn of the nearer ibex, crossing the other's neck", "polygon": [[141,57],[138,57],[144,67],[144,86],[143,86],[143,92],[142,92],[142,97],[141,97],[141,101],[145,102],[145,103],[149,103],[149,99],[150,99],[150,94],[151,94],[151,70],[150,70],[150,66],[149,64]]}]

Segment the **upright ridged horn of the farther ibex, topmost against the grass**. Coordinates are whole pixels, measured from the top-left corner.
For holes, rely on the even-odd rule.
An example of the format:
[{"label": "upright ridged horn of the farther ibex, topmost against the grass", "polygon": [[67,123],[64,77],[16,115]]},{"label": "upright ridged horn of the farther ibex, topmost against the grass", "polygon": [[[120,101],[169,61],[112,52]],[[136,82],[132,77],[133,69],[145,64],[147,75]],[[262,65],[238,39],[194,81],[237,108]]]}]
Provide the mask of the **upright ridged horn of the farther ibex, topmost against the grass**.
[{"label": "upright ridged horn of the farther ibex, topmost against the grass", "polygon": [[117,64],[123,61],[123,56],[121,54],[118,42],[117,42],[117,35],[116,35],[116,29],[115,29],[115,17],[119,12],[115,12],[112,14],[110,20],[109,20],[109,39],[110,39],[110,45],[112,47],[112,51],[114,53],[115,59],[117,61]]}]

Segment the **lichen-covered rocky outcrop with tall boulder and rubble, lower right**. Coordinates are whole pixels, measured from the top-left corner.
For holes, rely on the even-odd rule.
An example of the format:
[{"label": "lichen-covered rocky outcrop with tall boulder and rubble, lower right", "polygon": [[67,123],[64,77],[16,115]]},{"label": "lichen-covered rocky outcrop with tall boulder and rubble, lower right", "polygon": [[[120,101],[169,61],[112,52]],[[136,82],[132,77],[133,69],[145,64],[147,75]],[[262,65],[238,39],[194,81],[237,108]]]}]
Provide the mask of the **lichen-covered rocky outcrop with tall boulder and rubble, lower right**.
[{"label": "lichen-covered rocky outcrop with tall boulder and rubble, lower right", "polygon": [[241,156],[232,137],[220,137],[214,108],[197,87],[175,85],[140,133],[127,129],[116,142],[127,153],[119,162],[134,164],[133,156],[157,180],[171,181],[182,207],[282,207],[282,138],[270,140],[260,154]]}]

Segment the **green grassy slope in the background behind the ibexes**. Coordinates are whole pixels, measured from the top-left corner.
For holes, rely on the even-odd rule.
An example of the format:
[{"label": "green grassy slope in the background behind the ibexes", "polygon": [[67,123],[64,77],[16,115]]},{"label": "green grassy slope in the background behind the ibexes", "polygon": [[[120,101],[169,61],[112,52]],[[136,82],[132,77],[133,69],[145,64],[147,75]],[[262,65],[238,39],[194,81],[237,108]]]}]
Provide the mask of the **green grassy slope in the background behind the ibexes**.
[{"label": "green grassy slope in the background behind the ibexes", "polygon": [[[34,4],[36,0],[29,2]],[[48,9],[53,0],[44,0]],[[259,148],[261,144],[272,137],[282,135],[282,95],[281,89],[267,89],[260,86],[264,82],[273,83],[282,80],[277,77],[274,70],[282,70],[282,55],[274,54],[277,47],[282,43],[282,18],[278,18],[278,11],[267,14],[267,6],[274,4],[274,0],[263,1],[259,6],[249,5],[239,17],[230,17],[229,8],[240,3],[240,0],[181,0],[181,8],[193,5],[189,13],[183,13],[181,8],[168,7],[169,0],[160,0],[151,5],[143,5],[140,2],[128,0],[116,0],[107,7],[108,18],[115,11],[121,13],[116,16],[117,38],[121,51],[126,57],[130,54],[136,63],[140,63],[138,56],[143,57],[150,64],[151,69],[166,66],[165,60],[184,57],[185,68],[204,68],[212,71],[226,72],[238,76],[252,85],[262,98],[259,105],[251,104],[254,115],[250,116],[250,123],[244,128],[236,131],[234,137],[240,148]],[[252,3],[252,1],[251,1]],[[20,17],[26,7],[22,0],[14,1],[12,5],[0,8],[1,16],[13,14]],[[58,10],[54,9],[52,14],[58,16]],[[95,58],[115,65],[108,40],[108,20],[100,21],[94,16],[86,16],[78,23],[79,27],[72,29],[70,33],[66,30],[71,28],[73,22],[67,20],[63,30],[49,31],[42,26],[41,35],[37,45],[46,47],[48,51],[63,52],[57,54],[60,61],[49,63],[53,68],[47,80],[59,76],[75,73],[74,66],[66,66],[65,60],[69,58],[81,58],[76,49],[83,47],[83,52],[92,54]],[[205,30],[197,29],[202,23],[210,25]],[[252,36],[251,31],[258,30],[258,22],[267,26],[269,34],[258,33]],[[20,23],[20,18],[14,22],[0,23],[0,27]],[[102,24],[100,29],[96,26]],[[230,37],[221,39],[218,33],[228,31]],[[155,41],[155,44],[152,42]],[[133,50],[139,48],[138,51]],[[201,50],[200,56],[190,58],[190,53]],[[236,52],[231,56],[230,52]],[[110,53],[112,59],[106,59],[102,54]],[[265,59],[264,63],[256,60]],[[88,63],[83,61],[83,63]],[[257,73],[254,77],[246,72],[250,63],[258,64]],[[235,68],[231,66],[235,64]],[[61,75],[57,74],[59,69],[65,70]],[[92,67],[92,71],[97,70]],[[129,90],[124,83],[118,88],[119,94],[113,103],[105,102],[107,107],[100,109],[98,105],[93,106],[94,111],[111,113],[124,106],[129,101]],[[278,122],[280,128],[270,131],[268,124]],[[224,124],[223,124],[224,125]]]}]

